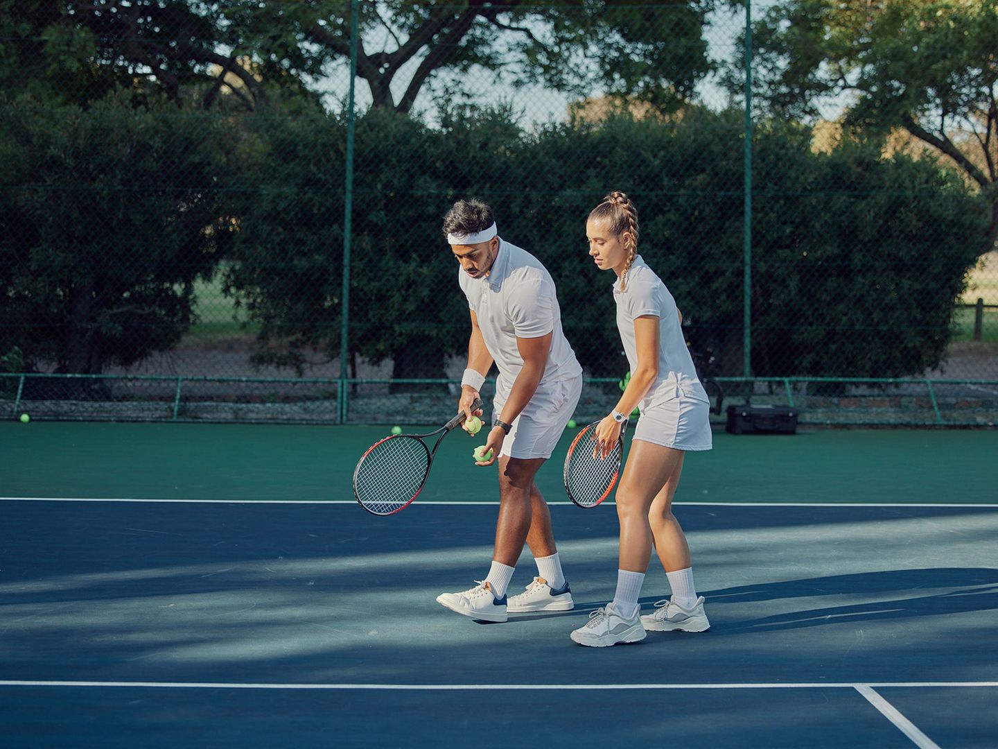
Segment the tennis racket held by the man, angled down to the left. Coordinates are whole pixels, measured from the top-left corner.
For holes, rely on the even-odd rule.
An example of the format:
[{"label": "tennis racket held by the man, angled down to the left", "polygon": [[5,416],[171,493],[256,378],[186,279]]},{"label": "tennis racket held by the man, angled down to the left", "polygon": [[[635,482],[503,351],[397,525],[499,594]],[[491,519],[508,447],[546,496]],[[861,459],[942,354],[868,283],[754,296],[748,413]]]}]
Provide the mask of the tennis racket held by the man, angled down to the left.
[{"label": "tennis racket held by the man, angled down to the left", "polygon": [[[476,399],[471,412],[481,407],[482,401]],[[441,440],[462,423],[464,411],[429,434],[392,434],[374,442],[353,469],[353,496],[360,506],[375,515],[390,515],[409,506],[426,484]],[[437,440],[431,449],[425,440],[432,437]]]}]

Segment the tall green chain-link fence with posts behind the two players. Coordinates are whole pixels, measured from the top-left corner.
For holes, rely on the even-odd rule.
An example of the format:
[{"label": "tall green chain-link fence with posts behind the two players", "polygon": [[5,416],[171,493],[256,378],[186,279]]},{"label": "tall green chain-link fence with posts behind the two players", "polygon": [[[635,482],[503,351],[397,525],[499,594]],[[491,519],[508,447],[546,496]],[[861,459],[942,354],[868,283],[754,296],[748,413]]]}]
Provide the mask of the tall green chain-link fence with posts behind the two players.
[{"label": "tall green chain-link fence with posts behind the two players", "polygon": [[[996,11],[908,5],[0,3],[0,407],[439,421],[469,334],[440,224],[477,197],[600,415],[627,363],[584,222],[623,190],[725,402],[993,423]],[[894,32],[962,109],[833,43]]]}]

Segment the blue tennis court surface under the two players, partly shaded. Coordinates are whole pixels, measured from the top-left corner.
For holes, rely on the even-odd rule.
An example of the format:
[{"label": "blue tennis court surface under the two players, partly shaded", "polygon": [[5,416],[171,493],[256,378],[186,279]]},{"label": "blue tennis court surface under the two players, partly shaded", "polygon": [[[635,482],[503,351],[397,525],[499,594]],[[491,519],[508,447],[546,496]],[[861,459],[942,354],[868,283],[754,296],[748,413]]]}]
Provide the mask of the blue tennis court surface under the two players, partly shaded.
[{"label": "blue tennis court surface under the two players, partly shaded", "polygon": [[500,625],[434,601],[488,558],[489,504],[2,508],[8,746],[597,746],[622,712],[701,746],[998,736],[995,506],[684,505],[712,630],[595,652],[568,633],[613,596],[611,506],[553,507],[576,609]]}]

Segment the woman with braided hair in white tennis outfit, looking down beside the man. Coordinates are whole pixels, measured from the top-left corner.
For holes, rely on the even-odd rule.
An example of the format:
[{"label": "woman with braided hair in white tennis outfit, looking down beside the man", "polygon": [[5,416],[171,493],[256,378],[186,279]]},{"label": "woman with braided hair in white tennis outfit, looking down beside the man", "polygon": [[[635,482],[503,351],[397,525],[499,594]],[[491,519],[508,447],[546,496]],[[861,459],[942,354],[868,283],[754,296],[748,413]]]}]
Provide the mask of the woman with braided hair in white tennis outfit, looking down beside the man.
[{"label": "woman with braided hair in white tennis outfit, looking down beside the man", "polygon": [[[620,192],[604,198],[589,215],[586,237],[597,268],[617,276],[617,327],[631,365],[617,406],[596,428],[595,449],[610,454],[636,406],[641,418],[617,489],[617,592],[572,639],[604,647],[638,642],[648,629],[703,632],[711,625],[694,588],[690,547],[672,502],[686,451],[711,449],[710,401],[687,350],[676,302],[637,254],[638,211],[630,199]],[[656,603],[654,613],[640,616],[638,597],[653,538],[673,594]]]}]

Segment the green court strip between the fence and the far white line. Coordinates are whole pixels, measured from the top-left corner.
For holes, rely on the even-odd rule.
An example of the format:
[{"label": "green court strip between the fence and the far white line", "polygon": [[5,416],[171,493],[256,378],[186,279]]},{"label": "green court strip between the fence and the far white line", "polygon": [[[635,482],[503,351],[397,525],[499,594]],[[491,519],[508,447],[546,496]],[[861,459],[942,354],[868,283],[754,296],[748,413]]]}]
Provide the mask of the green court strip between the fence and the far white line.
[{"label": "green court strip between the fence and the far white line", "polygon": [[[426,430],[425,427],[422,427]],[[406,429],[408,431],[408,429]],[[413,429],[415,431],[415,429]],[[0,496],[342,500],[371,426],[0,422]],[[567,431],[538,477],[565,501]],[[495,470],[476,467],[481,437],[444,438],[417,501],[497,498]],[[998,501],[998,429],[803,429],[794,435],[715,431],[687,456],[677,501]]]}]

